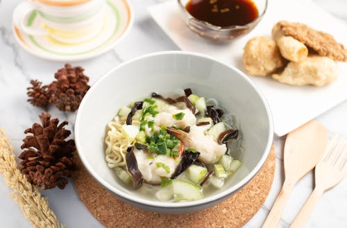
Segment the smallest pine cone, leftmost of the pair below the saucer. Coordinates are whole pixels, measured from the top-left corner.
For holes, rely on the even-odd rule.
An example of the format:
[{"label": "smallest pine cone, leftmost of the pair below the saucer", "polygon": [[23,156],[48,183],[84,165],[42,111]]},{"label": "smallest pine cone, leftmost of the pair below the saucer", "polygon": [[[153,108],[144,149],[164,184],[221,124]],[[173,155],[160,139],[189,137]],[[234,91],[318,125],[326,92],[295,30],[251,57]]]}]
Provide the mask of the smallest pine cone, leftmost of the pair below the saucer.
[{"label": "smallest pine cone, leftmost of the pair below the saucer", "polygon": [[38,80],[31,80],[30,83],[33,87],[26,88],[28,90],[26,94],[30,97],[28,102],[32,105],[46,108],[49,105],[49,98],[51,97],[48,86],[44,85],[41,87],[42,82]]}]

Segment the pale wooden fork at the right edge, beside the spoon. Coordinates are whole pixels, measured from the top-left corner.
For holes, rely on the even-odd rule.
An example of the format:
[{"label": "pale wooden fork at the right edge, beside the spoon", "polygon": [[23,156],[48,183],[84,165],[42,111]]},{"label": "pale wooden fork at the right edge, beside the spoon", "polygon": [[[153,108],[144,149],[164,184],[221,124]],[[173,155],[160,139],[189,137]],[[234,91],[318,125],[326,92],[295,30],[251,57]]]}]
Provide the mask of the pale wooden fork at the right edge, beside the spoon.
[{"label": "pale wooden fork at the right edge, beside the spoon", "polygon": [[315,169],[316,186],[308,198],[307,202],[296,216],[289,228],[305,227],[314,206],[321,195],[330,188],[333,188],[347,174],[347,145],[344,145],[345,139],[335,135],[329,141],[325,154]]}]

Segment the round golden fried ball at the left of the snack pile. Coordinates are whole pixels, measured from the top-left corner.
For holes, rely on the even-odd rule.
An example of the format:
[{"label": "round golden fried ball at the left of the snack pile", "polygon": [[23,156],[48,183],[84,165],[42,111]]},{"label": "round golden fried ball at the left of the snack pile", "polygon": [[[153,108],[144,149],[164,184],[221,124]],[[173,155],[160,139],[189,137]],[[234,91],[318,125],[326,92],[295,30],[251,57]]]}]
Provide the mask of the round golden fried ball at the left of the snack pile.
[{"label": "round golden fried ball at the left of the snack pile", "polygon": [[284,65],[276,42],[265,36],[248,40],[242,60],[246,71],[255,76],[266,76]]}]

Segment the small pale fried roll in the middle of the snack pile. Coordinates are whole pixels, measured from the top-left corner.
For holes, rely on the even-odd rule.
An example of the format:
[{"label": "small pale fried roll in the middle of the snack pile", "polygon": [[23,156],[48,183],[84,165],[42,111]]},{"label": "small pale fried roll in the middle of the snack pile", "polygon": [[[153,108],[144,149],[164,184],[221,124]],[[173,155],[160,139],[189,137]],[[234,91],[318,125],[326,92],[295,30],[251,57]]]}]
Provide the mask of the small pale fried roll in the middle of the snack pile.
[{"label": "small pale fried roll in the middle of the snack pile", "polygon": [[308,49],[305,44],[298,42],[293,37],[283,36],[277,40],[278,49],[283,58],[293,62],[303,62],[308,55]]}]

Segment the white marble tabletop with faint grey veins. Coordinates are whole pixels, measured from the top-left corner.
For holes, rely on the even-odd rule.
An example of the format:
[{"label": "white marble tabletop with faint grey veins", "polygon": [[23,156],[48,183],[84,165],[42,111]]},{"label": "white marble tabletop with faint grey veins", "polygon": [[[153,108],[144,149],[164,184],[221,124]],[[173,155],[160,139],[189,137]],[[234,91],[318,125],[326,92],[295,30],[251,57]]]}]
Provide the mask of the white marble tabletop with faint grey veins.
[{"label": "white marble tabletop with faint grey veins", "polygon": [[[91,84],[112,67],[138,55],[178,49],[149,17],[146,10],[148,6],[161,1],[164,0],[130,0],[135,10],[135,23],[128,36],[115,49],[101,55],[99,58],[73,63],[85,67],[85,73],[90,76]],[[347,24],[347,1],[315,1]],[[17,3],[19,3],[19,0],[0,1],[0,127],[6,130],[15,147],[15,153],[18,155],[21,152],[19,147],[24,138],[23,131],[31,123],[37,122],[38,115],[42,112],[42,109],[33,107],[26,102],[26,87],[28,87],[31,79],[50,82],[53,73],[62,67],[63,63],[48,62],[35,58],[26,53],[15,42],[10,25],[12,10]],[[310,12],[307,11],[307,13]],[[68,120],[69,127],[73,128],[75,113],[59,112],[55,108],[51,108],[50,112],[53,116]],[[330,111],[316,119],[328,128],[330,134],[337,132],[347,137],[346,114],[347,101],[344,101],[344,103],[330,109]],[[271,192],[260,211],[244,228],[261,227],[280,191],[284,179],[282,168],[283,140],[284,138],[275,140],[277,167]],[[278,227],[289,227],[312,192],[313,178],[314,176],[310,173],[295,186]],[[22,216],[19,207],[8,197],[9,193],[10,189],[6,187],[3,178],[0,177],[0,227],[31,227],[26,218]],[[51,208],[56,211],[58,218],[65,223],[66,227],[103,227],[85,209],[72,184],[67,185],[64,191],[53,189],[44,191],[43,194],[49,198]],[[307,227],[347,227],[347,178],[338,186],[323,194],[310,217]]]}]

